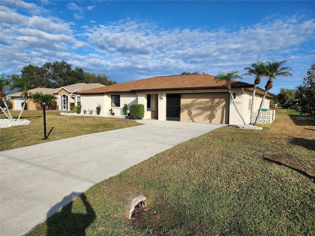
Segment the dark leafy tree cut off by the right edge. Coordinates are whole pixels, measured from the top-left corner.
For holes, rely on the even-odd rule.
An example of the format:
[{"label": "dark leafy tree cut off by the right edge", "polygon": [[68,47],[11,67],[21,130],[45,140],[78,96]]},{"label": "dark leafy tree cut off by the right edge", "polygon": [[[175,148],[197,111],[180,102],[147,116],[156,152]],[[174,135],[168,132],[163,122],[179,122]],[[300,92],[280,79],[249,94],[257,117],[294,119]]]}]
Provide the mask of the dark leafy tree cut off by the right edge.
[{"label": "dark leafy tree cut off by the right edge", "polygon": [[315,115],[315,62],[311,65],[307,75],[303,78],[303,86],[301,86],[300,113]]}]

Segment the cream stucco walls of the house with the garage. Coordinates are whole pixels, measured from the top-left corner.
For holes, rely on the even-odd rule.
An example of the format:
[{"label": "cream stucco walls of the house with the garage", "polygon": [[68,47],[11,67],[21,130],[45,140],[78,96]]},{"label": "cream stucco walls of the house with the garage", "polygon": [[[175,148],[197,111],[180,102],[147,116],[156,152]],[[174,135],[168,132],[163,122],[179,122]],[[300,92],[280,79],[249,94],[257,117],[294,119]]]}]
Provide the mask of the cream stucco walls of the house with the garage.
[{"label": "cream stucco walls of the house with the garage", "polygon": [[[137,93],[121,93],[120,94],[120,107],[111,106],[112,94],[94,94],[94,95],[81,95],[82,113],[83,109],[96,110],[97,104],[101,104],[102,109],[100,115],[108,115],[109,109],[113,109],[115,115],[123,115],[123,106],[126,103],[128,110],[131,104],[144,104],[145,114],[144,119],[155,118],[158,120],[166,120],[166,93],[205,93],[205,92],[226,92],[226,89],[202,89],[202,90],[170,90],[170,91],[152,91],[152,92],[137,92]],[[250,123],[251,110],[250,99],[252,99],[252,92],[248,89],[232,89],[232,94],[235,92],[235,104],[241,114],[244,116],[246,123]],[[119,93],[116,93],[119,94]],[[151,110],[147,108],[147,94],[151,95]],[[262,94],[256,92],[255,110],[258,110]],[[229,124],[243,124],[242,118],[238,115],[232,99],[230,97],[230,110],[229,110]],[[264,101],[263,108],[269,108],[269,98]],[[95,112],[94,112],[95,114]]]}]

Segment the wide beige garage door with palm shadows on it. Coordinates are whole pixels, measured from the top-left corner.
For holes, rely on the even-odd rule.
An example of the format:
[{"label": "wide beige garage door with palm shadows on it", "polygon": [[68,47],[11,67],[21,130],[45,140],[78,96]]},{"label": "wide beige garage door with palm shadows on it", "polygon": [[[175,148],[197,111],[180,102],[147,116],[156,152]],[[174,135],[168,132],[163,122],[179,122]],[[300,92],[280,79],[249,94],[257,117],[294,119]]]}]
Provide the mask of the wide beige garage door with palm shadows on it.
[{"label": "wide beige garage door with palm shadows on it", "polygon": [[229,93],[184,93],[181,121],[228,124],[229,101]]}]

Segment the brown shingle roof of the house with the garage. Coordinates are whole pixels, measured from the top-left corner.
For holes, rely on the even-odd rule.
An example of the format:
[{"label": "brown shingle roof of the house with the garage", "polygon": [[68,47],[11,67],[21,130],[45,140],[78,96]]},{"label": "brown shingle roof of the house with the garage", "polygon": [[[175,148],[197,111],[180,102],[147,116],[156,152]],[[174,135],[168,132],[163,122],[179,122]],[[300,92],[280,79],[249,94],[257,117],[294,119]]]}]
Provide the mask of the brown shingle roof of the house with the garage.
[{"label": "brown shingle roof of the house with the garage", "polygon": [[[77,92],[78,94],[130,92],[140,90],[179,90],[179,89],[222,89],[225,82],[216,82],[215,76],[209,74],[173,75],[151,77],[126,83],[88,89]],[[232,88],[251,88],[254,85],[233,80]]]}]

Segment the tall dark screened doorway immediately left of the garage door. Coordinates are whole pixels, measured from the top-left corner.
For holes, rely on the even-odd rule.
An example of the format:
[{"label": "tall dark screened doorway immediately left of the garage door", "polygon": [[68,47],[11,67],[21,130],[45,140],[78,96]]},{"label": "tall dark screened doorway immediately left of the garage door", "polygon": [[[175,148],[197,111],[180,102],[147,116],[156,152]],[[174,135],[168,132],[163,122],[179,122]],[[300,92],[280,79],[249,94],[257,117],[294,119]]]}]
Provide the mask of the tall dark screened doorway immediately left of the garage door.
[{"label": "tall dark screened doorway immediately left of the garage door", "polygon": [[166,120],[180,121],[181,94],[166,94]]}]

